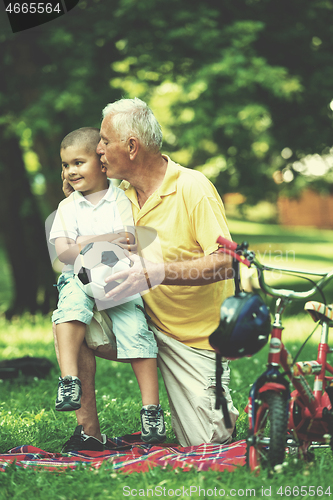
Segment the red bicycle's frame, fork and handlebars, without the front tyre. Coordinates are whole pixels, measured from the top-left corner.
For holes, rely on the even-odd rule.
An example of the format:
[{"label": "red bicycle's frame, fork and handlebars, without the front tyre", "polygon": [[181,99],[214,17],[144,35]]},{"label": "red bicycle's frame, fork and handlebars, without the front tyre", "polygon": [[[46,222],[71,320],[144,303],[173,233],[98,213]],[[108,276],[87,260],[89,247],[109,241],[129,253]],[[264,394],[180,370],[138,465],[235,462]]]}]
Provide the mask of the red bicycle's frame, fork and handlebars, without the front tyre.
[{"label": "red bicycle's frame, fork and handlebars, without the front tyre", "polygon": [[[269,446],[270,439],[263,437],[260,424],[266,417],[264,414],[269,408],[269,394],[278,394],[276,398],[280,401],[280,415],[285,415],[288,422],[286,430],[289,431],[290,439],[286,445],[297,447],[305,456],[312,442],[327,443],[333,434],[333,366],[327,362],[327,354],[333,352],[328,346],[329,319],[321,321],[322,331],[318,345],[317,359],[312,361],[294,362],[282,342],[282,315],[286,306],[292,300],[306,300],[318,290],[323,288],[333,277],[333,271],[329,273],[312,273],[310,271],[299,271],[300,274],[315,274],[321,276],[318,283],[306,292],[295,292],[293,290],[275,289],[264,280],[265,270],[276,270],[276,268],[262,265],[253,252],[248,251],[248,244],[229,242],[224,238],[218,238],[218,243],[224,248],[219,251],[232,255],[234,259],[248,267],[252,264],[257,268],[259,285],[268,295],[276,297],[276,311],[274,323],[271,330],[269,344],[268,364],[265,372],[259,376],[251,387],[248,404],[245,411],[249,418],[248,457],[252,468],[260,465],[260,458],[255,448],[261,449]],[[293,271],[279,269],[280,271]],[[293,271],[294,272],[294,271]],[[283,372],[280,372],[282,367]],[[287,378],[285,377],[287,376]],[[310,387],[305,376],[314,375],[314,389]],[[288,380],[289,379],[289,380]],[[290,394],[289,385],[294,390]],[[266,396],[267,394],[267,396]],[[283,409],[284,408],[284,409]],[[330,443],[333,443],[330,441]],[[280,462],[279,462],[280,463]]]}]

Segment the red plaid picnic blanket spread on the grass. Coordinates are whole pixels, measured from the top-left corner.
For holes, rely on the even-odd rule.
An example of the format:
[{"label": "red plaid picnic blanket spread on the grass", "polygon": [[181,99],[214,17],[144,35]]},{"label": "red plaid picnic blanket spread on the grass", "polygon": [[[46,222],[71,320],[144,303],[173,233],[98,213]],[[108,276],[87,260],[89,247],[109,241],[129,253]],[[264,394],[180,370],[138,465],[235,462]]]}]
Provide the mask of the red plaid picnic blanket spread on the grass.
[{"label": "red plaid picnic blanket spread on the grass", "polygon": [[98,469],[104,464],[113,471],[130,474],[147,472],[153,467],[171,466],[173,469],[233,470],[245,464],[245,441],[230,445],[201,444],[181,447],[175,444],[146,445],[140,441],[140,433],[109,439],[105,451],[79,451],[50,453],[34,446],[18,446],[0,454],[0,471],[15,463],[16,467],[42,468],[44,470],[75,469],[84,465]]}]

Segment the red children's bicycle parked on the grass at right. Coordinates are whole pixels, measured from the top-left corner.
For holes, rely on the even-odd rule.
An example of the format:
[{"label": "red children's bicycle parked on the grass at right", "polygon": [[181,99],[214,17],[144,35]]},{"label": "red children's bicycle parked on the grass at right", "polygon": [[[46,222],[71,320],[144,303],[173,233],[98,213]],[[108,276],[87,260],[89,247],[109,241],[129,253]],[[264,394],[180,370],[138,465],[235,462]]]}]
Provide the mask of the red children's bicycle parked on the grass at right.
[{"label": "red children's bicycle parked on the grass at right", "polygon": [[[327,362],[328,353],[333,352],[328,345],[333,308],[326,305],[322,292],[333,278],[333,270],[295,271],[266,266],[248,249],[247,243],[238,245],[222,237],[218,238],[218,243],[220,252],[232,255],[248,267],[254,266],[261,290],[276,298],[267,369],[252,385],[246,407],[249,419],[247,463],[250,469],[281,464],[288,448],[304,459],[310,458],[312,448],[330,446],[333,449],[333,366]],[[303,292],[277,289],[266,283],[266,271],[312,275],[320,279]],[[304,306],[313,320],[321,325],[317,359],[297,361],[298,355],[293,359],[282,342],[282,316],[292,301],[306,301],[318,291],[323,302],[306,302]],[[313,388],[306,379],[309,375],[314,375]],[[291,393],[290,386],[293,388]]]}]

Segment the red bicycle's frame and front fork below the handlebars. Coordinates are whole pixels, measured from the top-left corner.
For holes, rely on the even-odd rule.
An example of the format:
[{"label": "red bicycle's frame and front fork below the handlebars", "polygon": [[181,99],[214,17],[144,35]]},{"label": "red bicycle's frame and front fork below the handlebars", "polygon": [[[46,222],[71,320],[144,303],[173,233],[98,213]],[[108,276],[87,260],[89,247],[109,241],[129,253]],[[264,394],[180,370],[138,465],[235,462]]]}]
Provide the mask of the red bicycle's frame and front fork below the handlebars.
[{"label": "red bicycle's frame and front fork below the handlebars", "polygon": [[[256,421],[256,413],[260,406],[260,395],[265,391],[283,393],[286,400],[286,412],[289,415],[288,429],[301,441],[315,439],[316,442],[326,443],[325,434],[330,432],[329,413],[324,410],[332,408],[330,395],[325,392],[328,383],[333,377],[326,376],[326,372],[333,374],[333,366],[327,363],[327,354],[331,352],[328,346],[328,324],[323,323],[322,334],[318,346],[317,359],[315,361],[303,361],[293,364],[289,351],[284,346],[282,338],[282,324],[280,314],[276,315],[275,323],[271,331],[271,339],[268,353],[268,368],[253,384],[247,406],[249,416],[249,430],[253,434]],[[280,373],[279,366],[284,373]],[[314,390],[312,391],[307,382],[306,375],[315,375]],[[290,394],[289,384],[284,375],[287,375],[294,391]],[[295,422],[294,408],[298,405],[301,415],[299,422]],[[306,431],[302,428],[306,424]]]}]

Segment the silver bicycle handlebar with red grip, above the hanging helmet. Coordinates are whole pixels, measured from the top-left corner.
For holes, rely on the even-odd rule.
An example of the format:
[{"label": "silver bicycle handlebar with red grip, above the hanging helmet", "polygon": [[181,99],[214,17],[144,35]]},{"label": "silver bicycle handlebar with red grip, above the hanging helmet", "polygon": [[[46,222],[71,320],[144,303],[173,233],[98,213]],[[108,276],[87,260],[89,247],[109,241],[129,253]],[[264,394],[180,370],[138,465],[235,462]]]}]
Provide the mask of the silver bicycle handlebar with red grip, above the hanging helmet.
[{"label": "silver bicycle handlebar with red grip, above the hanging helmet", "polygon": [[[282,269],[277,267],[265,266],[256,258],[255,253],[252,250],[248,250],[248,243],[246,242],[238,245],[234,241],[230,241],[226,238],[223,238],[222,236],[219,236],[217,238],[217,243],[221,245],[218,252],[232,255],[233,258],[237,259],[242,264],[245,264],[247,267],[251,267],[251,265],[254,265],[257,269],[260,288],[267,295],[271,295],[272,297],[284,297],[293,300],[306,300],[312,297],[312,295],[314,295],[318,291],[318,288],[324,288],[324,286],[326,286],[327,283],[333,278],[333,269],[328,272],[311,272],[300,269]],[[305,292],[295,292],[294,290],[273,288],[268,285],[264,278],[264,271],[285,271],[304,275],[311,274],[313,276],[322,276],[322,278],[310,290],[307,290]]]}]

